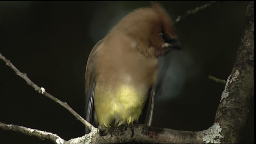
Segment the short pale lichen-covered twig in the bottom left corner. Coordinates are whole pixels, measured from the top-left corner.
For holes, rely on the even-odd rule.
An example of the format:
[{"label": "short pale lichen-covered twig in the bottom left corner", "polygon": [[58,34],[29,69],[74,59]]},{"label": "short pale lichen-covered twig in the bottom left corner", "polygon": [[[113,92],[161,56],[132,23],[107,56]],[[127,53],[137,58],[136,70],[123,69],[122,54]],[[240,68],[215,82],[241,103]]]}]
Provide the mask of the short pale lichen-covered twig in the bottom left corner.
[{"label": "short pale lichen-covered twig in the bottom left corner", "polygon": [[57,134],[53,134],[51,132],[45,132],[42,130],[32,129],[32,128],[26,128],[24,126],[18,126],[14,124],[4,124],[0,122],[0,127],[4,130],[12,130],[15,132],[21,132],[23,134],[29,135],[29,136],[37,136],[42,139],[52,140],[56,144],[63,144],[65,140],[60,138]]}]

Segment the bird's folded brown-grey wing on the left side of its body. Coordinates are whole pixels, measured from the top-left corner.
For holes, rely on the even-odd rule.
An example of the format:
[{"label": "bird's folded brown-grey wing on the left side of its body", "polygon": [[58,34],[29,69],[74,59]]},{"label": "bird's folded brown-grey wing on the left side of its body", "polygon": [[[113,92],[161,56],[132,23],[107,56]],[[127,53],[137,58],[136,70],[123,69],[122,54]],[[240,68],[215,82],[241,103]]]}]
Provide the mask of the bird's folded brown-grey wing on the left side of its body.
[{"label": "bird's folded brown-grey wing on the left side of its body", "polygon": [[[94,88],[95,88],[95,58],[97,49],[102,44],[103,40],[100,40],[90,52],[87,60],[86,73],[85,73],[85,120],[92,123],[92,114],[94,111]],[[89,133],[89,129],[85,128],[85,132]]]}]

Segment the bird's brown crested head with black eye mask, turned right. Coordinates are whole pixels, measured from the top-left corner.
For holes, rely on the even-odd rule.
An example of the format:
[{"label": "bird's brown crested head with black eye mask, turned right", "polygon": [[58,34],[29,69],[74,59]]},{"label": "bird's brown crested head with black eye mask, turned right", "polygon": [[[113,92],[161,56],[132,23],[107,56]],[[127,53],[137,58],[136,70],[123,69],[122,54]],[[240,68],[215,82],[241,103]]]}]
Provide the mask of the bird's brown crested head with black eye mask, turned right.
[{"label": "bird's brown crested head with black eye mask, turned right", "polygon": [[151,4],[152,8],[139,8],[125,16],[114,29],[134,38],[144,55],[156,58],[172,49],[180,49],[180,44],[164,8],[157,2]]}]

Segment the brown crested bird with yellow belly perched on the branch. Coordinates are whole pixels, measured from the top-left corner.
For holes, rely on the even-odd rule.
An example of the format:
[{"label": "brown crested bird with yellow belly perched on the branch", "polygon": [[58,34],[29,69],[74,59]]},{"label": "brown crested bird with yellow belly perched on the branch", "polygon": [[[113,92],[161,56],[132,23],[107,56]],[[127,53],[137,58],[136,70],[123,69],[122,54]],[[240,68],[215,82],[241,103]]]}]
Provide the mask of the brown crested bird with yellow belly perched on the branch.
[{"label": "brown crested bird with yellow belly perched on the branch", "polygon": [[152,123],[158,56],[179,48],[174,25],[156,2],[126,15],[90,52],[86,66],[86,120],[96,126]]}]

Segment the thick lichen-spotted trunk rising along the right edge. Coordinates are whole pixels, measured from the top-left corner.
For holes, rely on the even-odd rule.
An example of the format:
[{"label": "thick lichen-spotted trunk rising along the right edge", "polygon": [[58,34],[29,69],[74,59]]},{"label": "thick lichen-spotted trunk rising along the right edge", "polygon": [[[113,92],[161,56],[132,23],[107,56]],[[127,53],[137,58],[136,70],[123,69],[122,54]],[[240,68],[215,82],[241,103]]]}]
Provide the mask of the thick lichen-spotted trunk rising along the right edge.
[{"label": "thick lichen-spotted trunk rising along the right edge", "polygon": [[254,2],[246,10],[246,22],[234,68],[228,77],[215,122],[220,123],[223,143],[237,143],[246,124],[254,96]]}]

